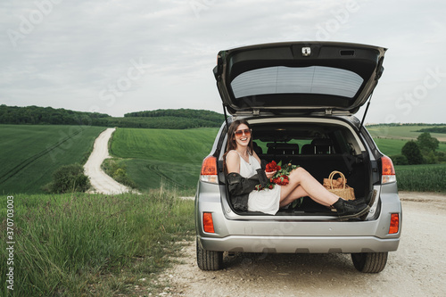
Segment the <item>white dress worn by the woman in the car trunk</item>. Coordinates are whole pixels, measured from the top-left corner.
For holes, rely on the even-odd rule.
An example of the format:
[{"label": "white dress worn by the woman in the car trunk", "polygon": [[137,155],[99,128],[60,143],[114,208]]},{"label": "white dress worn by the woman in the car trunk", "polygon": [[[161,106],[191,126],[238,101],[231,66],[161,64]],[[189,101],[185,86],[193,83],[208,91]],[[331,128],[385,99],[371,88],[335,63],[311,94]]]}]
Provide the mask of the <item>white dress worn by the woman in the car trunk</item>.
[{"label": "white dress worn by the woman in the car trunk", "polygon": [[[236,151],[235,151],[236,152]],[[238,152],[237,152],[238,153]],[[240,175],[242,177],[252,177],[260,169],[260,163],[254,156],[249,155],[249,162],[244,161],[240,156]],[[254,190],[248,198],[248,211],[261,211],[271,215],[276,214],[280,204],[280,186],[276,185],[273,189]]]}]

